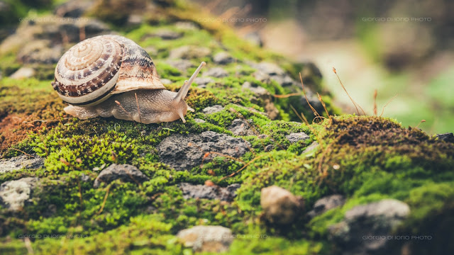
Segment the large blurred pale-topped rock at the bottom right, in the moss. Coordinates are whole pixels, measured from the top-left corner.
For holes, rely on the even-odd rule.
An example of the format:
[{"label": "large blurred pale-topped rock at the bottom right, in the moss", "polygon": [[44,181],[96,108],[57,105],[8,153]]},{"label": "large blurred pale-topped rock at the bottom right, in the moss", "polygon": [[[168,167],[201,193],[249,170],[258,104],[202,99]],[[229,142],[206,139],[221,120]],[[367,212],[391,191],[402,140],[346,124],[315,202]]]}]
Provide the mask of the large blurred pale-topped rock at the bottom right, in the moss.
[{"label": "large blurred pale-topped rock at the bottom right, in the moss", "polygon": [[328,227],[328,231],[333,242],[344,251],[343,254],[380,254],[389,240],[373,237],[387,237],[409,213],[406,203],[384,199],[355,206],[345,212],[342,222]]}]

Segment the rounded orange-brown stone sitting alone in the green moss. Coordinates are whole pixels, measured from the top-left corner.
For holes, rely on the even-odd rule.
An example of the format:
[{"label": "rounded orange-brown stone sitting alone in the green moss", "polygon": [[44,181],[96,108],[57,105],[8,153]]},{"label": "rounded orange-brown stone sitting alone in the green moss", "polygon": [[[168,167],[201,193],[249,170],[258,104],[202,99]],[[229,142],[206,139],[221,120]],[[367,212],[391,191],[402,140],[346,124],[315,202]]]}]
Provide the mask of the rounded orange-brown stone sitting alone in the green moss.
[{"label": "rounded orange-brown stone sitting alone in the green moss", "polygon": [[260,205],[265,220],[277,225],[289,225],[303,211],[303,199],[278,186],[262,188]]}]

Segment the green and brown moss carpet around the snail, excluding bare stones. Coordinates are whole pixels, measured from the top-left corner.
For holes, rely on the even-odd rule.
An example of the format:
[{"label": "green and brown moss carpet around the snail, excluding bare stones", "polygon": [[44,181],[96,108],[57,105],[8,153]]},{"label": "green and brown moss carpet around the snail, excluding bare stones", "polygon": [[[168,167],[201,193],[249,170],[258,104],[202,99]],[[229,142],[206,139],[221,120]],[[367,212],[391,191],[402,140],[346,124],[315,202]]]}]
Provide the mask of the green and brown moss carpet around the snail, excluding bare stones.
[{"label": "green and brown moss carpet around the snail, excluding bare stones", "polygon": [[[292,91],[276,81],[258,81],[247,62],[275,62],[294,78],[300,67],[238,40],[221,24],[198,22],[195,9],[181,1],[168,2],[160,6],[165,12],[159,21],[149,18],[148,24],[120,31],[144,48],[155,47],[157,55],[152,57],[157,72],[172,81],[167,89],[177,91],[196,64],[202,60],[212,64],[216,52],[227,51],[238,60],[222,66],[228,77],[214,78],[206,88],[192,86],[187,103],[196,112],[187,114],[187,123],[79,120],[63,111],[65,104],[57,98],[47,74],[38,79],[0,80],[1,157],[26,153],[45,159],[40,169],[0,175],[0,183],[29,176],[40,179],[33,203],[23,210],[10,212],[0,206],[1,254],[26,253],[25,237],[31,239],[36,254],[192,254],[176,234],[194,225],[232,229],[237,238],[229,254],[333,254],[338,250],[328,239],[328,226],[341,222],[355,205],[383,198],[402,200],[411,208],[396,234],[432,233],[439,237],[423,247],[409,243],[412,254],[451,247],[453,234],[446,226],[453,222],[453,143],[417,128],[405,128],[389,118],[334,115],[338,111],[328,95],[323,101],[330,116],[324,115],[321,122],[307,125],[291,121],[298,120],[291,104],[307,117],[311,111],[294,105],[299,100],[279,97],[273,98],[273,103],[281,119],[270,120],[263,113],[262,101],[243,90],[242,84],[248,81],[262,86],[271,95]],[[108,16],[106,13],[103,15]],[[178,28],[175,21],[191,21],[197,29]],[[174,30],[182,37],[162,40],[144,36],[159,29]],[[211,54],[189,60],[194,66],[187,71],[167,64],[170,50],[186,44],[207,47]],[[11,56],[2,57],[14,63]],[[223,110],[202,112],[216,104]],[[160,162],[157,145],[166,137],[205,131],[235,136],[228,128],[236,119],[251,123],[248,128],[254,134],[236,136],[250,144],[243,156],[218,154],[210,162],[184,171]],[[309,139],[293,143],[287,139],[297,132],[305,132]],[[314,141],[319,147],[305,152]],[[272,149],[265,149],[268,145]],[[140,185],[117,180],[93,188],[99,171],[110,164],[132,164],[150,180]],[[231,203],[185,200],[178,188],[182,182],[222,187],[240,183],[241,187]],[[271,185],[303,197],[307,211],[316,200],[334,193],[345,196],[347,203],[311,220],[301,215],[282,229],[260,220],[260,190]],[[393,251],[400,252],[402,245]]]}]

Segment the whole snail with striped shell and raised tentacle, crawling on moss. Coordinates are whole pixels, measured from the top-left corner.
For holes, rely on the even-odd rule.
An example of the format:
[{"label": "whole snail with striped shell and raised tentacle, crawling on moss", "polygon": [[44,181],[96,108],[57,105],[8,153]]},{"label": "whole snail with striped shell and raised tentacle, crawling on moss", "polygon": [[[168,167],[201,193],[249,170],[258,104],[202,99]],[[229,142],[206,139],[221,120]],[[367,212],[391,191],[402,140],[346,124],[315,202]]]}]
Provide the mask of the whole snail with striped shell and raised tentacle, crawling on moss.
[{"label": "whole snail with striped shell and raised tentacle, crawling on moss", "polygon": [[184,115],[194,109],[184,97],[204,65],[178,93],[168,91],[142,47],[119,35],[99,35],[62,55],[52,87],[70,104],[64,111],[80,119],[114,116],[149,124],[181,118],[185,123]]}]

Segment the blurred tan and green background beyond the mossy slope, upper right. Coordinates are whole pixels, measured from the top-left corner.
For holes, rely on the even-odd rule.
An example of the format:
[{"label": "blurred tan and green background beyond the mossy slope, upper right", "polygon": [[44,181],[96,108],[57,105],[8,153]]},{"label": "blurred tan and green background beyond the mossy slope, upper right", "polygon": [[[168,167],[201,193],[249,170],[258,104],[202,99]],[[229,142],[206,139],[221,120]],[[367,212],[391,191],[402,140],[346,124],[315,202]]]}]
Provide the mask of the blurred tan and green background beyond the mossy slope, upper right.
[{"label": "blurred tan and green background beyond the mossy slope, upper right", "polygon": [[426,120],[419,127],[430,133],[453,132],[454,1],[197,2],[217,16],[237,18],[228,22],[244,38],[258,35],[263,47],[314,62],[346,113],[356,111],[332,67],[367,114],[373,114],[377,89],[379,115],[397,94],[384,116],[412,127]]}]

